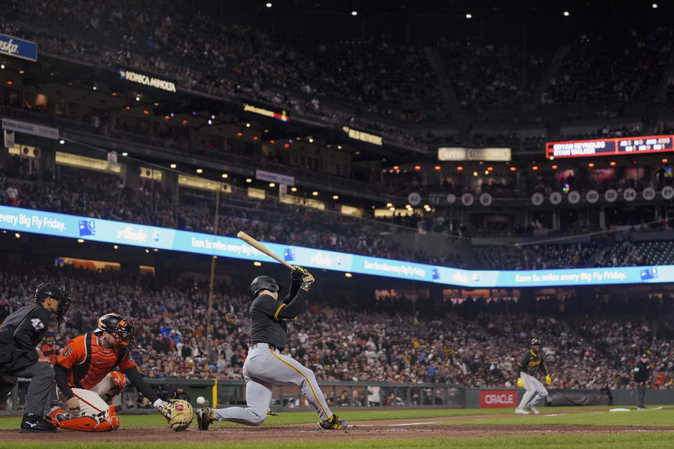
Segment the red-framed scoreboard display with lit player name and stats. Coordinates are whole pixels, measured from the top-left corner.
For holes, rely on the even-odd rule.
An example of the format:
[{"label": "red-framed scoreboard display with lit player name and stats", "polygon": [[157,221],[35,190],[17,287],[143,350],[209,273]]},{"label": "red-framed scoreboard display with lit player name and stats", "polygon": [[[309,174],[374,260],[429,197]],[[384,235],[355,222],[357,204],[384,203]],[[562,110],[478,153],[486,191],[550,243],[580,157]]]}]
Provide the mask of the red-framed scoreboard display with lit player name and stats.
[{"label": "red-framed scoreboard display with lit player name and stats", "polygon": [[621,156],[674,151],[674,135],[647,135],[635,138],[569,140],[546,143],[546,157]]}]

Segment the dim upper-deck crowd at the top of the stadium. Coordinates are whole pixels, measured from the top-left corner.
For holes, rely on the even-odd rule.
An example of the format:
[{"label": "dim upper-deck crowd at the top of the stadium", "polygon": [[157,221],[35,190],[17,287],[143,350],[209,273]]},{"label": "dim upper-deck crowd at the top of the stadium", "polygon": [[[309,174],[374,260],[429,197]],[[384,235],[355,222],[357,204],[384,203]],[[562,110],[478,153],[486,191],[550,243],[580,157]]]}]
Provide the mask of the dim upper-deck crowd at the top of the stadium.
[{"label": "dim upper-deck crowd at the top of the stadium", "polygon": [[[90,8],[85,0],[67,8],[39,0],[0,5],[6,32],[38,41],[48,52],[114,70],[142,70],[230,100],[259,100],[334,126],[357,116],[364,130],[401,145],[425,146],[437,137],[395,123],[451,120],[444,112],[447,93],[440,91],[421,43],[391,36],[308,43],[292,33],[270,36],[258,27],[224,25],[192,4],[167,0],[140,1],[133,16],[116,4]],[[618,102],[621,115],[627,102],[652,100],[671,52],[672,29],[628,29],[611,46],[605,42],[613,36],[595,33],[576,39],[546,86],[543,104]],[[531,100],[550,64],[544,55],[554,51],[446,37],[434,47],[459,104],[478,108]],[[611,76],[596,85],[607,72]]]}]

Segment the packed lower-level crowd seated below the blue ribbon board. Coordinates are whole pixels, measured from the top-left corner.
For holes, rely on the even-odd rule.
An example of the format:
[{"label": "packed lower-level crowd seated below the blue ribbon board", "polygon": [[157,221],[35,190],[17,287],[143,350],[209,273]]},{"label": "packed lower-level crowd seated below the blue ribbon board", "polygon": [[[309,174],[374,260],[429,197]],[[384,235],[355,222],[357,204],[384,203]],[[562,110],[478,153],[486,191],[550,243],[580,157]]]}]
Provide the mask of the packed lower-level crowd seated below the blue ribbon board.
[{"label": "packed lower-level crowd seated below the blue ribbon board", "polygon": [[[65,332],[48,334],[53,340],[43,351],[58,351],[70,338],[92,330],[98,316],[117,311],[136,324],[133,357],[145,376],[242,379],[251,303],[243,283],[218,283],[208,335],[209,288],[195,279],[39,262],[4,261],[0,268],[0,321],[32,301],[40,280],[67,281],[74,291]],[[673,386],[672,328],[654,325],[655,316],[673,311],[670,295],[617,298],[623,315],[613,320],[597,318],[616,310],[601,297],[548,298],[536,302],[534,313],[512,300],[428,300],[414,312],[409,301],[391,307],[388,300],[368,295],[349,301],[338,295],[310,300],[303,316],[289,323],[284,350],[315,370],[319,380],[513,387],[517,361],[531,337],[539,337],[553,387],[633,387],[630,369],[644,351],[653,358],[650,387]],[[645,302],[649,307],[644,311]]]}]

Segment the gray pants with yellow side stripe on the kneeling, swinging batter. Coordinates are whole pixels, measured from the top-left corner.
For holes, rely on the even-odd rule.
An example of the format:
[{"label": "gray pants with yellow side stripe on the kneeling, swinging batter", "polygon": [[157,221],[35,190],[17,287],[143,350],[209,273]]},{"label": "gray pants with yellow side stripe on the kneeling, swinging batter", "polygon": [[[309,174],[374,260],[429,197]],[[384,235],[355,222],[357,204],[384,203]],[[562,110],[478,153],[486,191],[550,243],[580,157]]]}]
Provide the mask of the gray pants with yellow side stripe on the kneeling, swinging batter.
[{"label": "gray pants with yellow side stripe on the kneeling, swinging batter", "polygon": [[267,409],[277,382],[296,384],[321,416],[321,420],[332,417],[323,392],[316,383],[314,372],[294,358],[280,354],[278,349],[270,348],[266,343],[251,346],[244,362],[244,380],[247,407],[216,408],[213,410],[215,420],[259,426],[267,418]]}]

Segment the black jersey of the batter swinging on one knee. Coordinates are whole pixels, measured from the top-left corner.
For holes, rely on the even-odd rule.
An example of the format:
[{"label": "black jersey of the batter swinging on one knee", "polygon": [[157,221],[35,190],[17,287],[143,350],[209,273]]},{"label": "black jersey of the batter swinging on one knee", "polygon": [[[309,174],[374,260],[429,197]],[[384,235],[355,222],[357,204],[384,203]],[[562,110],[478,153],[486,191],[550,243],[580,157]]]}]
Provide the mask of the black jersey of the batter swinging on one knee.
[{"label": "black jersey of the batter swinging on one knee", "polygon": [[288,328],[284,319],[295,318],[304,308],[306,292],[298,288],[293,281],[291,293],[296,292],[289,301],[275,300],[270,295],[259,295],[251,304],[251,343],[273,344],[282,349],[288,338]]}]

